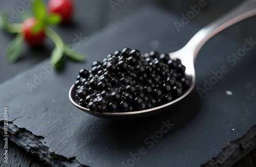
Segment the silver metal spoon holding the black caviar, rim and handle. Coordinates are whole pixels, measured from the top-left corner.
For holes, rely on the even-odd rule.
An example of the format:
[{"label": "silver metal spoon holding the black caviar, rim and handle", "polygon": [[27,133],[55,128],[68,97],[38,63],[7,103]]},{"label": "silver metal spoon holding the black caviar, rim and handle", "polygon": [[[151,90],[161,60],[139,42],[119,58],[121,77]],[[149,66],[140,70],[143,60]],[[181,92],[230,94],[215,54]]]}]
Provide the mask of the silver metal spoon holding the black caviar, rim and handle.
[{"label": "silver metal spoon holding the black caviar, rim and handle", "polygon": [[215,20],[214,22],[203,27],[197,34],[195,34],[188,43],[178,51],[169,53],[171,59],[180,59],[182,64],[186,67],[185,75],[190,80],[190,87],[186,92],[184,92],[179,98],[154,107],[150,109],[139,110],[135,112],[122,112],[122,113],[98,113],[93,112],[86,107],[82,107],[76,101],[75,95],[75,86],[73,85],[69,91],[69,98],[71,103],[77,108],[81,109],[83,112],[86,112],[90,115],[106,118],[106,119],[135,119],[141,117],[151,116],[153,114],[160,113],[166,110],[168,107],[174,105],[184,97],[186,97],[195,87],[195,61],[199,50],[202,46],[216,34],[226,29],[227,27],[242,21],[248,17],[256,15],[256,0],[246,0],[234,8],[229,13],[225,14],[221,18]]}]

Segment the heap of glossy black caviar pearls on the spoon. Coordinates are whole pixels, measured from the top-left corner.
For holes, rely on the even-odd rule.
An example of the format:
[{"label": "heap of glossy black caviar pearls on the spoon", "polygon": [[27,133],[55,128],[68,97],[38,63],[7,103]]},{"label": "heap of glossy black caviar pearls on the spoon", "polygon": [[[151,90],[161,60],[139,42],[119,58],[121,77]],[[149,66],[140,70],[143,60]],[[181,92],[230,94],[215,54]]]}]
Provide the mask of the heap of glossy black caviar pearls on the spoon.
[{"label": "heap of glossy black caviar pearls on the spoon", "polygon": [[185,66],[168,54],[124,48],[109,54],[92,69],[81,69],[75,81],[79,105],[94,112],[133,112],[179,97],[190,82]]}]

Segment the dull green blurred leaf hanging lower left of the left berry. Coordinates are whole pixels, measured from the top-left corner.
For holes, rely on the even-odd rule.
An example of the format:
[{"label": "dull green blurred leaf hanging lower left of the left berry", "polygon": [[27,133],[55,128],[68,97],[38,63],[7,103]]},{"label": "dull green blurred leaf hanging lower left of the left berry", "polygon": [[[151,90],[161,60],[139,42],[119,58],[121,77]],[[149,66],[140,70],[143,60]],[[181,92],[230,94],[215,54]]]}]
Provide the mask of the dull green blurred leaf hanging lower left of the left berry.
[{"label": "dull green blurred leaf hanging lower left of the left berry", "polygon": [[18,34],[7,46],[7,61],[14,63],[19,58],[19,53],[22,50],[23,35]]}]

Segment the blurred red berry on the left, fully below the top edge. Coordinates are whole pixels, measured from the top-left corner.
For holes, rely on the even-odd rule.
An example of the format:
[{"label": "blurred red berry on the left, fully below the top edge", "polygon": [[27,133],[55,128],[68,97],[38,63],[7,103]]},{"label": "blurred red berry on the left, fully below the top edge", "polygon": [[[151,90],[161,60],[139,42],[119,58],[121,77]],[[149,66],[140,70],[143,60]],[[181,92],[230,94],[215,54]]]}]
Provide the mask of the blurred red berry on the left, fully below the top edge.
[{"label": "blurred red berry on the left, fully below the top edge", "polygon": [[22,26],[22,33],[24,34],[24,39],[27,41],[28,44],[32,46],[41,45],[45,39],[45,33],[40,31],[36,34],[31,33],[32,27],[36,24],[37,20],[35,18],[26,19],[23,22]]}]

